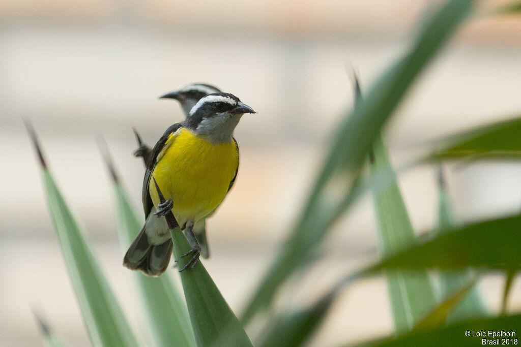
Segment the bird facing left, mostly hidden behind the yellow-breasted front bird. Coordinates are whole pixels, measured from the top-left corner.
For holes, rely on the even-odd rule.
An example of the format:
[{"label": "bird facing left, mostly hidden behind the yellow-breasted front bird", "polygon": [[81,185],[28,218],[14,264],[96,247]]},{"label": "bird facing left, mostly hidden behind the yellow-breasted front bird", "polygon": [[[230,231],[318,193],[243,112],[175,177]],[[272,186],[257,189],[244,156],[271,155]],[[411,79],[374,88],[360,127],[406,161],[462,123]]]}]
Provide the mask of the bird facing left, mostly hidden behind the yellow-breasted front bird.
[{"label": "bird facing left, mostly hidden behind the yellow-breasted front bird", "polygon": [[[167,93],[163,96],[160,96],[159,98],[178,100],[179,104],[181,104],[181,108],[183,109],[184,116],[188,118],[190,115],[190,110],[195,106],[195,104],[197,104],[197,101],[199,101],[202,97],[212,93],[220,93],[219,88],[205,83],[192,83],[184,86],[178,91]],[[148,166],[148,157],[150,156],[151,149],[142,142],[141,137],[135,130],[134,133],[139,143],[139,148],[134,151],[134,156],[142,157],[146,168]],[[235,141],[235,139],[233,140]],[[194,234],[196,235],[201,245],[201,255],[205,259],[209,258],[210,249],[208,245],[208,239],[206,238],[206,218],[203,218],[195,223]]]}]

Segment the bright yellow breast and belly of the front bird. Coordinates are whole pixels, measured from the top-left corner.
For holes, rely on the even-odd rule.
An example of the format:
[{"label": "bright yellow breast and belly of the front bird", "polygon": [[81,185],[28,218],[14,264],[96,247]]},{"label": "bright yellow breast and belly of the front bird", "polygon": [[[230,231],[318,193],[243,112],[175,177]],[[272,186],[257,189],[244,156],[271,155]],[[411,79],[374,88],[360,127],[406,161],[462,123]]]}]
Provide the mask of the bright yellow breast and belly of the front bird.
[{"label": "bright yellow breast and belly of the front bird", "polygon": [[[197,221],[224,199],[239,165],[235,143],[212,144],[187,128],[171,134],[159,153],[152,173],[179,224]],[[159,203],[154,182],[149,185],[155,207]]]}]

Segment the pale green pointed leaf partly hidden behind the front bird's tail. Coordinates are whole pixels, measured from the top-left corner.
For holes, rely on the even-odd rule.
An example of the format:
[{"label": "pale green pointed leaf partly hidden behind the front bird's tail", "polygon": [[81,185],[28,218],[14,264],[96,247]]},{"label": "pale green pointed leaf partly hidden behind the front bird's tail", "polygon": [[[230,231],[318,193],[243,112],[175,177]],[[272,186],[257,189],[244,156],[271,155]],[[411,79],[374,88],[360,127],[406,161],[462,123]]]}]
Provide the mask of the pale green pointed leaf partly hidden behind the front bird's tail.
[{"label": "pale green pointed leaf partly hidden behind the front bird's tail", "polygon": [[[115,182],[119,236],[121,246],[127,249],[141,230],[140,219],[130,206],[127,194]],[[190,317],[170,274],[148,277],[141,272],[133,274],[141,293],[147,324],[156,346],[195,346]]]}]

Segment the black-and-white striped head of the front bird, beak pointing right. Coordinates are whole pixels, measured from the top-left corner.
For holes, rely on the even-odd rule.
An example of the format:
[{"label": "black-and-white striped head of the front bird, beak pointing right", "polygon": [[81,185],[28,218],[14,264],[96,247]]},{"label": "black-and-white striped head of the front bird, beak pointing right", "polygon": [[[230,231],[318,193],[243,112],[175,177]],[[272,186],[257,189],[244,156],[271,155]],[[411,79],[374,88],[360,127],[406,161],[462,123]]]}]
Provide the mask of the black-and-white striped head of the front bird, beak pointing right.
[{"label": "black-and-white striped head of the front bird, beak pointing right", "polygon": [[207,95],[192,107],[185,126],[213,143],[229,143],[244,113],[256,113],[230,93]]}]

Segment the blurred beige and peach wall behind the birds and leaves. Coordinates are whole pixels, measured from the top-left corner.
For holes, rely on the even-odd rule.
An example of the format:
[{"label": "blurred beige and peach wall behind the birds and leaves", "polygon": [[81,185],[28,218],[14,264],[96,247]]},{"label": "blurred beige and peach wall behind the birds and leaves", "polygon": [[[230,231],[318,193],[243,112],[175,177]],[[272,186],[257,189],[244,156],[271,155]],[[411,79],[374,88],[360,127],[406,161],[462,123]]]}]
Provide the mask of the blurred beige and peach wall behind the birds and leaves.
[{"label": "blurred beige and peach wall behind the birds and leaves", "polygon": [[[483,1],[483,7],[499,1]],[[120,303],[138,326],[129,271],[121,266],[113,188],[96,139],[103,136],[138,211],[144,173],[132,157],[131,127],[153,145],[181,121],[181,108],[158,96],[191,82],[215,84],[258,114],[237,130],[239,176],[209,220],[212,258],[204,261],[239,313],[291,230],[328,145],[353,104],[350,74],[369,85],[411,41],[427,0],[179,2],[3,0],[0,2],[0,345],[40,345],[31,306],[74,346],[89,339],[47,212],[40,171],[21,118],[33,122],[49,167],[83,221]],[[521,111],[521,19],[483,17],[467,24],[423,74],[385,138],[395,167],[428,140]],[[400,176],[418,232],[436,219],[435,170]],[[447,166],[461,221],[521,208],[521,165]],[[366,196],[328,239],[289,305],[317,297],[339,274],[376,257],[377,225]],[[500,304],[502,277],[480,290]],[[521,309],[521,283],[511,310]],[[392,331],[383,279],[350,287],[312,345],[334,345]]]}]

